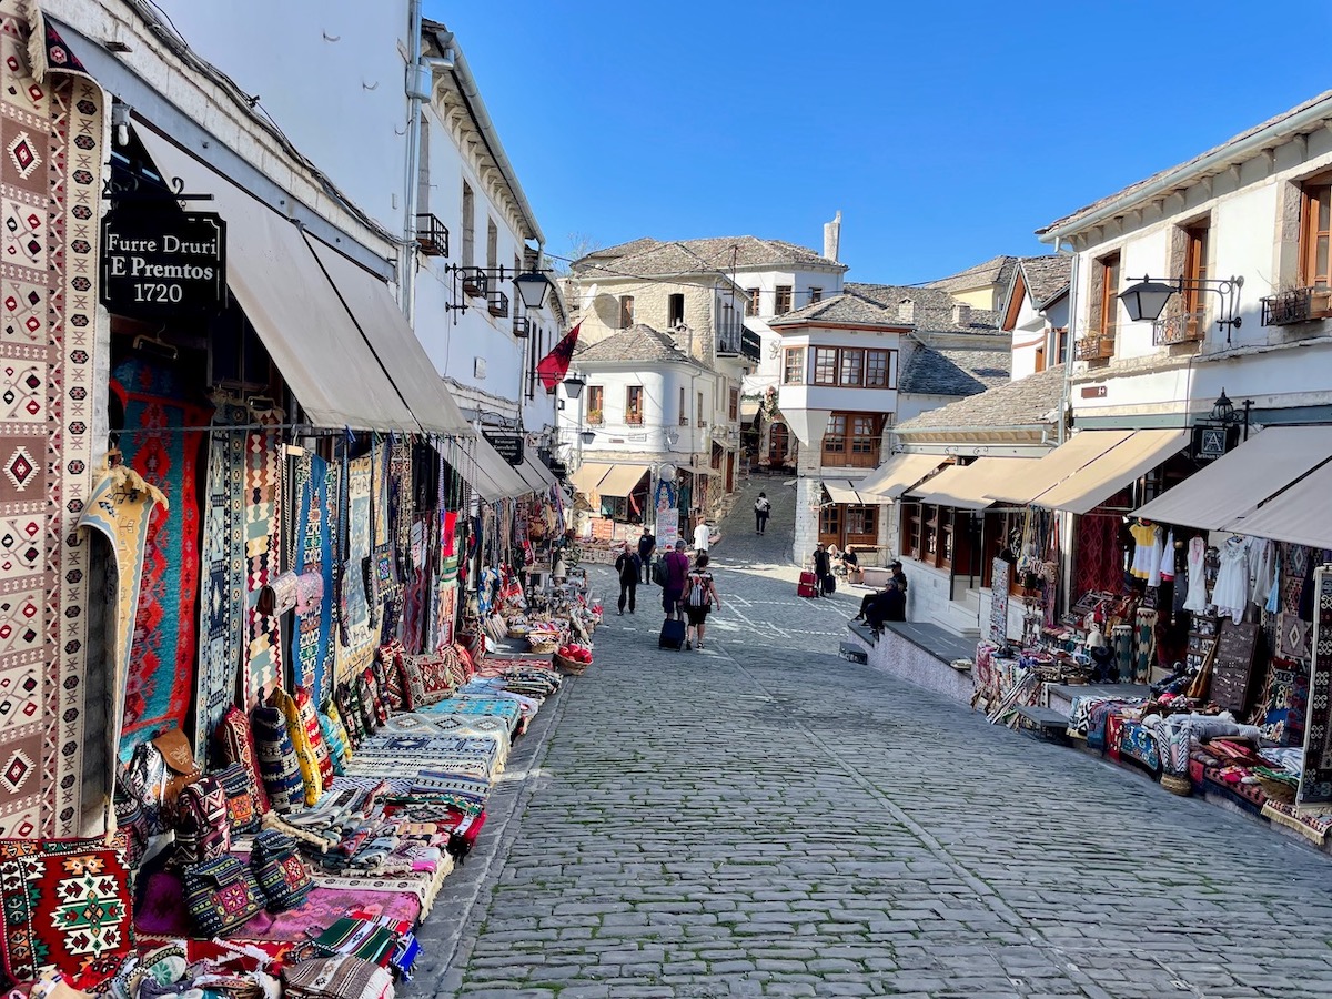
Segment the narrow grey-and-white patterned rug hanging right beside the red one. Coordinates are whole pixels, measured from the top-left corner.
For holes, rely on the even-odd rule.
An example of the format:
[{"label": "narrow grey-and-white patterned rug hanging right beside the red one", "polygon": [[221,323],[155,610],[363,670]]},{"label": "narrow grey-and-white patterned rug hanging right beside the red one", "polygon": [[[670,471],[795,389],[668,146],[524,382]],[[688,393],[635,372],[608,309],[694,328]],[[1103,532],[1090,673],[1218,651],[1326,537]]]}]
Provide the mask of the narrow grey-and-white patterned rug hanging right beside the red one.
[{"label": "narrow grey-and-white patterned rug hanging right beside the red one", "polygon": [[222,401],[208,434],[204,476],[204,538],[198,678],[194,694],[194,755],[202,762],[213,729],[236,701],[245,634],[245,442],[246,406]]}]

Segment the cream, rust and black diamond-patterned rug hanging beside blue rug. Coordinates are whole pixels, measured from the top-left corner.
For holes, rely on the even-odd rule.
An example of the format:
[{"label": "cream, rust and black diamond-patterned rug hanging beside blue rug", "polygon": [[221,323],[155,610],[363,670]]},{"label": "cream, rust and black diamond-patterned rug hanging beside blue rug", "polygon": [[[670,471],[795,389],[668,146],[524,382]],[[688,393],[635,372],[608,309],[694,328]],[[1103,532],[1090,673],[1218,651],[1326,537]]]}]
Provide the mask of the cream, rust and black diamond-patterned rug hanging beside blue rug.
[{"label": "cream, rust and black diamond-patterned rug hanging beside blue rug", "polygon": [[[272,409],[252,413],[256,424],[281,424],[282,414]],[[265,690],[282,679],[282,643],[276,615],[260,614],[258,591],[281,570],[278,519],[281,497],[281,436],[274,430],[253,430],[245,441],[245,705],[262,701]]]}]

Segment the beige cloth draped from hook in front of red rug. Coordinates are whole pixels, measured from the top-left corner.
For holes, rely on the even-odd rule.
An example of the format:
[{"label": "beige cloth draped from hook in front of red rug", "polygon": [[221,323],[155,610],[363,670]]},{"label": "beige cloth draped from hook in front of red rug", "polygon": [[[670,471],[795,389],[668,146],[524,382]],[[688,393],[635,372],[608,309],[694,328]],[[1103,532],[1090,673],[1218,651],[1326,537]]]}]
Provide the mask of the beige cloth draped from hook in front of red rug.
[{"label": "beige cloth draped from hook in front of red rug", "polygon": [[153,510],[166,505],[166,497],[156,486],[145,482],[137,472],[115,468],[103,476],[79,521],[80,527],[96,530],[107,538],[112,551],[109,563],[115,567],[111,593],[116,634],[111,642],[112,675],[108,682],[111,691],[108,699],[113,714],[107,733],[107,745],[112,754],[120,749],[120,733],[124,726],[125,682],[133,650],[135,618],[139,614],[148,525]]}]

